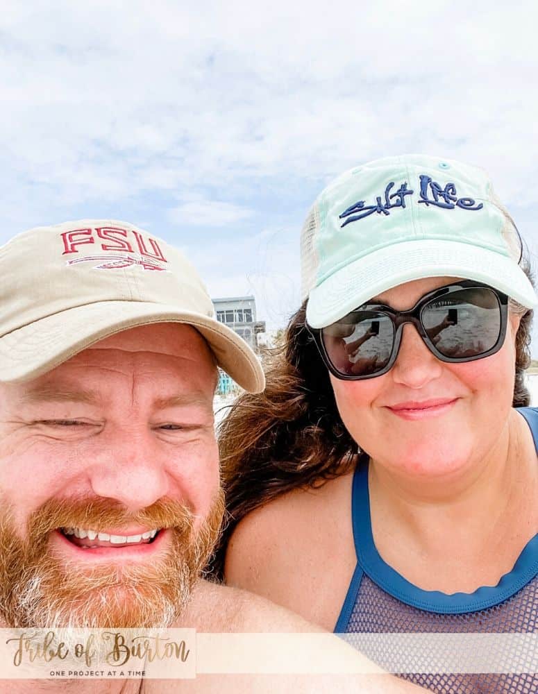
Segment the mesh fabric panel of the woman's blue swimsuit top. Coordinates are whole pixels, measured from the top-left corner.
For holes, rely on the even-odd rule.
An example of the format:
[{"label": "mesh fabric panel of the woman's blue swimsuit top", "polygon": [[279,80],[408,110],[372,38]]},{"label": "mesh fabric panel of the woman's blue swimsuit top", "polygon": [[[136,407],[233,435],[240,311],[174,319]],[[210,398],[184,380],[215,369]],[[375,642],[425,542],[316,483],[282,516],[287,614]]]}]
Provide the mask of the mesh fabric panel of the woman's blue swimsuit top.
[{"label": "mesh fabric panel of the woman's blue swimsuit top", "polygon": [[[392,670],[390,663],[398,656],[394,654],[392,648],[388,652],[387,641],[380,638],[378,641],[368,639],[361,643],[360,634],[405,632],[536,634],[538,632],[538,577],[512,595],[512,598],[494,607],[463,614],[441,614],[421,610],[401,602],[363,575],[346,629],[346,641],[355,645],[355,648],[359,648],[382,668]],[[355,638],[353,638],[354,635]],[[405,639],[403,642],[405,643]],[[427,641],[426,649],[430,650],[432,659],[442,661],[443,654],[439,652],[442,643],[442,640],[437,639]],[[502,643],[510,643],[510,641],[502,641]],[[532,643],[529,648],[532,648]],[[424,658],[428,659],[428,652],[423,654]],[[529,663],[532,659],[536,660],[538,655],[534,648],[532,652],[521,652],[520,649],[512,654],[507,654],[504,650],[499,652],[498,659],[494,654],[494,661],[502,662],[503,659],[512,659],[512,657],[515,662],[519,660],[521,663]],[[417,673],[404,674],[401,677],[439,694],[534,694],[538,692],[536,672],[472,675]]]}]

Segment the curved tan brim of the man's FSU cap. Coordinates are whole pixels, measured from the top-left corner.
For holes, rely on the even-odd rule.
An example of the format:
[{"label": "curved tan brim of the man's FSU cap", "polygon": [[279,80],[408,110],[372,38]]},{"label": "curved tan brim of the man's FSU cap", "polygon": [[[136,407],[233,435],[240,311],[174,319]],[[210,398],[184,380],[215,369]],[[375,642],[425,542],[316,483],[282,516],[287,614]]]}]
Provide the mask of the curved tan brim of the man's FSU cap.
[{"label": "curved tan brim of the man's FSU cap", "polygon": [[264,389],[258,358],[233,330],[202,314],[142,301],[77,306],[4,335],[0,338],[0,381],[37,378],[105,337],[152,323],[192,325],[208,341],[219,366],[237,384],[251,393]]}]

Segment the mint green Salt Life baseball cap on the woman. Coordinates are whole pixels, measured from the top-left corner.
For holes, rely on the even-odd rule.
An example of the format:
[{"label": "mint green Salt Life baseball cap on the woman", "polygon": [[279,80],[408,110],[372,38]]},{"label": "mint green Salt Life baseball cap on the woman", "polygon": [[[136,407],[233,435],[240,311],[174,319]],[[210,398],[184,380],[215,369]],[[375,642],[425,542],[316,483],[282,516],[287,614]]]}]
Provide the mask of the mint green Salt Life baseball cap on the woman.
[{"label": "mint green Salt Life baseball cap on the woman", "polygon": [[521,238],[482,169],[411,154],[346,171],[321,192],[301,233],[306,320],[323,328],[382,291],[425,277],[484,282],[538,303],[519,266]]}]

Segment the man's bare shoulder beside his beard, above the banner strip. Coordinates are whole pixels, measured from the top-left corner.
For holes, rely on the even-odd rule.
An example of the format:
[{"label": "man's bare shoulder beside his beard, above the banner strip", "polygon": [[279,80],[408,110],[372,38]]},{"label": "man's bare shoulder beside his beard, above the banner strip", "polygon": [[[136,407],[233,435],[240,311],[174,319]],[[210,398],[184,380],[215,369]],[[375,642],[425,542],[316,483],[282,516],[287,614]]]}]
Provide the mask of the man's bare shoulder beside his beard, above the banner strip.
[{"label": "man's bare shoulder beside his beard, above the banner strip", "polygon": [[198,632],[319,632],[299,615],[238,588],[199,580],[177,626]]}]

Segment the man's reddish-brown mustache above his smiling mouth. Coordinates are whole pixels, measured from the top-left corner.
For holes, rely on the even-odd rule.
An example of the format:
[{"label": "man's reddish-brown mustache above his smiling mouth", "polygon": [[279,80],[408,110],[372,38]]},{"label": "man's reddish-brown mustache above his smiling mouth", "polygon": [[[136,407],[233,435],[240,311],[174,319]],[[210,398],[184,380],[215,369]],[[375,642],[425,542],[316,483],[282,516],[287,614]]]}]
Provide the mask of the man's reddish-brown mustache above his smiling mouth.
[{"label": "man's reddish-brown mustache above his smiling mouth", "polygon": [[191,509],[176,500],[162,498],[135,514],[118,505],[113,499],[49,499],[28,518],[28,539],[45,539],[59,527],[90,527],[106,531],[110,527],[144,525],[149,528],[174,528],[188,534],[192,529],[194,514]]}]

